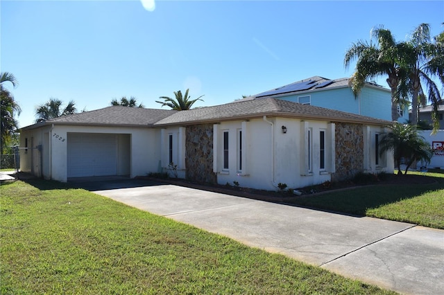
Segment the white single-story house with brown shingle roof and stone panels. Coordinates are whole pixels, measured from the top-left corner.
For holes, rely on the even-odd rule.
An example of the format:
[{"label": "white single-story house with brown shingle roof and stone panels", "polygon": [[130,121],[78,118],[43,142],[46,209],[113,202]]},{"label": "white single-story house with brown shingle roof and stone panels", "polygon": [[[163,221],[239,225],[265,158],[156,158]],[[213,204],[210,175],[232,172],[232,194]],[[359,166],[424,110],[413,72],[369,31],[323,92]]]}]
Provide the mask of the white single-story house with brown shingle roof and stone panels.
[{"label": "white single-story house with brown shingle roof and stone panels", "polygon": [[[169,171],[266,190],[393,172],[379,154],[390,121],[275,98],[189,111],[105,107],[21,132],[21,170],[46,179]],[[171,171],[170,171],[171,172]]]}]

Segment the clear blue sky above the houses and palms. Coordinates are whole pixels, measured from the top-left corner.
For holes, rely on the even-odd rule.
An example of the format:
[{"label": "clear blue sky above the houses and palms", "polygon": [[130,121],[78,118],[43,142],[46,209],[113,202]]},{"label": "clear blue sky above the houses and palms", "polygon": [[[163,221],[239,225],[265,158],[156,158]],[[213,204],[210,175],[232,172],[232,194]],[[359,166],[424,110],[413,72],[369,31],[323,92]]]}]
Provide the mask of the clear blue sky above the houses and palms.
[{"label": "clear blue sky above the houses and palms", "polygon": [[158,0],[150,11],[139,0],[2,0],[0,10],[0,66],[19,81],[8,88],[20,127],[51,97],[78,110],[122,96],[160,108],[160,96],[189,88],[203,107],[314,75],[348,77],[345,51],[374,26],[398,41],[420,23],[432,36],[444,30],[444,1]]}]

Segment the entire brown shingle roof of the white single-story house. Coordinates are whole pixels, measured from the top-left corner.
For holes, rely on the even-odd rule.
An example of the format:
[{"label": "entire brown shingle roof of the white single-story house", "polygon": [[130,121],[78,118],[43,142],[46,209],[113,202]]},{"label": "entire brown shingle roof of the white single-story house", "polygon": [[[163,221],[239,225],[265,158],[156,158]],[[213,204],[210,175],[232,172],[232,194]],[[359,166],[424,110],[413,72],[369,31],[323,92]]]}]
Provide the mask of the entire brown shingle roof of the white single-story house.
[{"label": "entire brown shingle roof of the white single-story house", "polygon": [[297,102],[275,98],[263,98],[238,100],[225,105],[201,107],[188,111],[144,109],[138,107],[105,107],[104,109],[85,111],[83,113],[46,120],[46,122],[24,127],[24,129],[33,129],[49,124],[163,127],[170,125],[217,123],[228,120],[247,120],[250,118],[262,118],[262,116],[368,123],[375,125],[387,125],[390,123],[386,120],[345,113],[334,109],[302,105]]}]

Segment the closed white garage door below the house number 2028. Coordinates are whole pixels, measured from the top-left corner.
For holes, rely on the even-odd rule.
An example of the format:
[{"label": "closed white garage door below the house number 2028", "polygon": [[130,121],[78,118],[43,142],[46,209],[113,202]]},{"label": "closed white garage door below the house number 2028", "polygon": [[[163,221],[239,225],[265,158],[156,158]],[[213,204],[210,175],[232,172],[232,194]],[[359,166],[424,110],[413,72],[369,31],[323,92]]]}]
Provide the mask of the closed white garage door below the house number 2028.
[{"label": "closed white garage door below the house number 2028", "polygon": [[117,134],[68,134],[68,177],[117,175]]}]

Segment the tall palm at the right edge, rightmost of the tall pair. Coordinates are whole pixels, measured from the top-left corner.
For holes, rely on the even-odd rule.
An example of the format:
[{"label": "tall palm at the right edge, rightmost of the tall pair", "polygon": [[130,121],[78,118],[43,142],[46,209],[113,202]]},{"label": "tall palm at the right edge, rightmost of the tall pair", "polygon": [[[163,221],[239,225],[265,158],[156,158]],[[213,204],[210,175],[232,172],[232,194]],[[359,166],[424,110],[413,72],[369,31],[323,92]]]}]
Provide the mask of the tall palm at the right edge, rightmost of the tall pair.
[{"label": "tall palm at the right edge, rightmost of the tall pair", "polygon": [[[420,24],[412,33],[407,42],[403,42],[405,54],[400,60],[401,66],[407,75],[400,82],[398,92],[402,96],[411,96],[411,122],[418,124],[418,102],[420,98],[425,100],[425,85],[428,100],[432,102],[432,125],[434,132],[439,128],[438,102],[441,101],[441,93],[432,78],[440,78],[444,84],[443,46],[438,42],[432,43],[429,24]],[[425,105],[425,101],[422,102]]]}]

